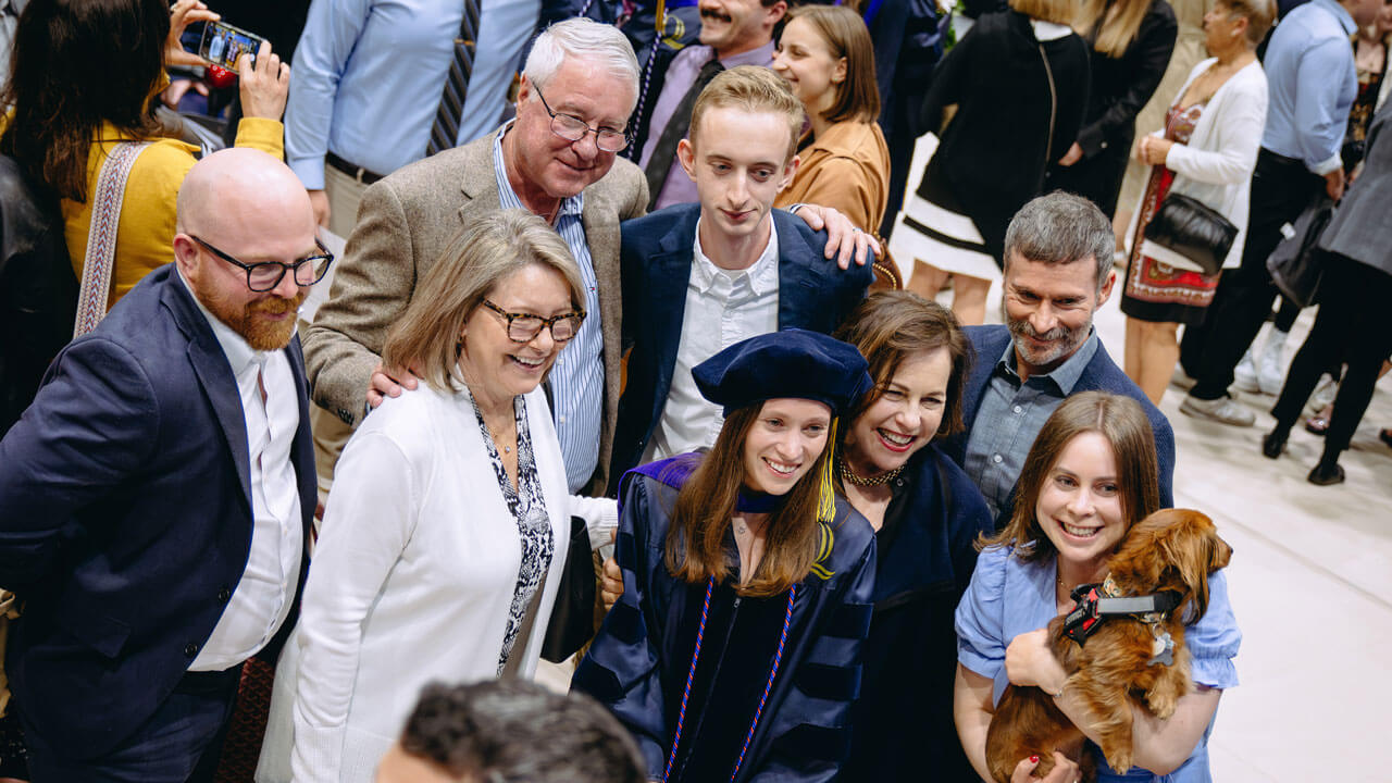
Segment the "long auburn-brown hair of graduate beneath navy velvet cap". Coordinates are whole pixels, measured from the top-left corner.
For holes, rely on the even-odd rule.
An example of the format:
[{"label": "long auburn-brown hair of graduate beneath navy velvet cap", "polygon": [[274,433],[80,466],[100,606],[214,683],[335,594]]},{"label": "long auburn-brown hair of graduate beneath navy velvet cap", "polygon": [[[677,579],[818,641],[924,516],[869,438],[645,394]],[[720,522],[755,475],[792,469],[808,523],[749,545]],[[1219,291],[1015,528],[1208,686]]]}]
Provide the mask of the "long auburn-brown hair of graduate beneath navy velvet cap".
[{"label": "long auburn-brown hair of graduate beneath navy velvet cap", "polygon": [[[667,568],[686,582],[729,577],[725,557],[725,536],[734,524],[739,489],[745,483],[745,439],[763,403],[731,411],[715,437],[715,446],[706,453],[677,495],[672,521],[667,531]],[[827,446],[816,463],[768,514],[764,556],[752,578],[736,588],[750,598],[768,598],[800,582],[817,560],[821,524],[817,521],[820,476],[831,460],[835,425],[827,431]]]}]

